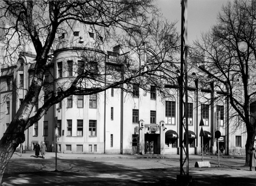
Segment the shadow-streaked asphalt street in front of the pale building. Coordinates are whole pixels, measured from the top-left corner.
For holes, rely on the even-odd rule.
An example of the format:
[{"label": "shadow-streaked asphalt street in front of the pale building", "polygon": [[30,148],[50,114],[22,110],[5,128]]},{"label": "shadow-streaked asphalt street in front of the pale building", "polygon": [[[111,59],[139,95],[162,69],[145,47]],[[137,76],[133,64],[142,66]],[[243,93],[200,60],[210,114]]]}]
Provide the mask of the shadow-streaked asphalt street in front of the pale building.
[{"label": "shadow-streaked asphalt street in front of the pale building", "polygon": [[[211,167],[196,168],[201,156],[189,156],[189,185],[256,185],[256,171],[249,171],[243,156],[204,156]],[[179,155],[97,155],[15,153],[2,185],[180,185]],[[186,167],[186,166],[185,166]],[[186,172],[186,168],[184,168]]]}]

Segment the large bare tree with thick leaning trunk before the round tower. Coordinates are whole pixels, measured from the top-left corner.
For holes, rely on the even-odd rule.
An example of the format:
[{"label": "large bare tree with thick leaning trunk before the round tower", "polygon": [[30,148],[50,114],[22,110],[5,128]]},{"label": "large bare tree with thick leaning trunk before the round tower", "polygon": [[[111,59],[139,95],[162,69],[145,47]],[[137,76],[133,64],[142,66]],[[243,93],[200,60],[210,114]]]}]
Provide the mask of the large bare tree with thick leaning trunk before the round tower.
[{"label": "large bare tree with thick leaning trunk before the round tower", "polygon": [[[129,84],[133,83],[138,83],[140,87],[147,89],[147,82],[149,81],[160,84],[163,75],[159,74],[163,74],[165,71],[162,66],[171,67],[171,53],[175,52],[175,48],[179,44],[179,36],[175,31],[174,24],[161,23],[162,26],[166,25],[172,34],[164,32],[166,36],[162,38],[165,39],[162,51],[150,52],[151,60],[147,63],[140,61],[139,52],[144,51],[143,54],[145,54],[145,48],[143,49],[141,44],[146,41],[145,37],[140,38],[140,36],[142,33],[152,36],[156,31],[149,29],[150,24],[154,23],[155,20],[154,16],[152,20],[149,20],[149,14],[157,15],[156,7],[151,0],[3,1],[0,4],[0,10],[1,22],[8,24],[8,27],[2,28],[5,30],[5,58],[12,59],[12,56],[17,54],[19,50],[34,51],[36,54],[33,64],[34,73],[30,77],[31,84],[25,99],[0,140],[0,182],[15,149],[25,141],[24,131],[41,119],[52,105],[61,102],[70,95],[91,95],[112,87],[122,88],[129,92],[131,91]],[[118,44],[119,39],[125,38],[122,40],[126,42],[122,44],[124,47],[133,48],[133,50],[118,55],[118,57],[113,57],[116,54],[110,54],[106,61],[102,60],[105,56],[99,52],[100,45],[94,52],[78,49],[76,53],[82,62],[74,64],[74,69],[68,65],[63,68],[71,71],[75,76],[70,78],[68,82],[64,82],[67,86],[60,84],[57,87],[58,90],[55,90],[51,83],[44,82],[45,73],[51,74],[51,62],[49,63],[47,59],[52,50],[58,46],[58,39],[55,37],[65,34],[65,30],[67,27],[71,28],[70,23],[73,21],[89,25],[104,35],[106,42],[116,41],[115,43]],[[120,35],[118,31],[122,31],[123,34]],[[113,36],[119,38],[114,39]],[[157,36],[160,35],[157,34]],[[169,45],[168,41],[173,41],[173,43]],[[147,42],[150,44],[153,43],[153,40]],[[137,45],[132,46],[131,43],[137,43]],[[167,57],[159,57],[159,54],[164,52],[168,53],[165,55]],[[108,65],[110,62],[113,65]],[[126,86],[122,86],[124,83]],[[41,91],[45,91],[47,99],[36,114],[30,117]]]}]

